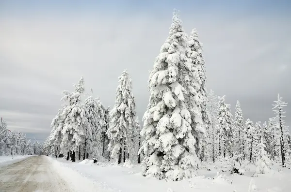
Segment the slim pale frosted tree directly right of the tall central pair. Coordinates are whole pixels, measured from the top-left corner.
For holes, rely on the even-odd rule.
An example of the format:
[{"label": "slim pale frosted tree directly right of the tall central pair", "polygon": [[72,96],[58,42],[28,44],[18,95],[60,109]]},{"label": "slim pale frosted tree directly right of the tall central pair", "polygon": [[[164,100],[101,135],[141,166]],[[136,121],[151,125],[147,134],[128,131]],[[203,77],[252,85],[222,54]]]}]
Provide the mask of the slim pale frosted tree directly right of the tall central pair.
[{"label": "slim pale frosted tree directly right of the tall central pair", "polygon": [[210,161],[215,162],[218,151],[218,135],[216,130],[216,117],[218,108],[218,97],[213,90],[210,90],[208,95],[208,113],[210,117],[210,126],[207,130],[208,135],[208,155]]}]

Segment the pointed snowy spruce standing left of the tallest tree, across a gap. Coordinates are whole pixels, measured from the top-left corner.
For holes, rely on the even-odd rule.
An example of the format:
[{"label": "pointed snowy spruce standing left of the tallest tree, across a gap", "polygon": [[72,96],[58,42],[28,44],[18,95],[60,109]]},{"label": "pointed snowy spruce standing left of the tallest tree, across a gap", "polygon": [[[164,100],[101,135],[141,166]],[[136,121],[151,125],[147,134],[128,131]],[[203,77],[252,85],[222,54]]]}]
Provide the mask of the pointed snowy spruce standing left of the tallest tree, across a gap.
[{"label": "pointed snowy spruce standing left of the tallest tree, across a gap", "polygon": [[110,112],[110,126],[107,135],[110,140],[108,150],[116,162],[121,162],[123,149],[123,162],[132,146],[132,131],[135,129],[135,99],[132,94],[131,78],[127,70],[119,76],[119,85],[116,89],[116,99]]}]

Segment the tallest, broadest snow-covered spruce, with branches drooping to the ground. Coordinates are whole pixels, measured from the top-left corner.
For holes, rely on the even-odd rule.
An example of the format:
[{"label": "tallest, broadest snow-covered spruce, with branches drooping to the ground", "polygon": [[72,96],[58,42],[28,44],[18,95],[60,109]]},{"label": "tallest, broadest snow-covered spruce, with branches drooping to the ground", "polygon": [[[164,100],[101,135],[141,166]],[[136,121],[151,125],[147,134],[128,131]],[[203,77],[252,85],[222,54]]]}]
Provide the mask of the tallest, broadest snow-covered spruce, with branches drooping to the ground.
[{"label": "tallest, broadest snow-covered spruce, with branches drooping to the ground", "polygon": [[[186,84],[186,39],[179,14],[174,12],[169,36],[148,80],[150,98],[141,131],[145,140],[140,149],[145,157],[142,167],[146,177],[181,180],[194,176],[198,168],[196,140],[192,132],[195,130],[191,127],[191,115],[187,109],[187,92],[181,85]],[[191,66],[189,63],[188,68]]]}]

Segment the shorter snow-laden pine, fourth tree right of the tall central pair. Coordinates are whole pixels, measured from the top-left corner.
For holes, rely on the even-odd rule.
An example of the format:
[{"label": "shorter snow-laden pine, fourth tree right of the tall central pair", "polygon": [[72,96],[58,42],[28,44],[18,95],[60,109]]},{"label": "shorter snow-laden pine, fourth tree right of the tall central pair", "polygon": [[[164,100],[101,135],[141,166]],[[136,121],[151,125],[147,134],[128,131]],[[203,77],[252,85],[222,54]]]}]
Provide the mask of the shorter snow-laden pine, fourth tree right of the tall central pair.
[{"label": "shorter snow-laden pine, fourth tree right of the tall central pair", "polygon": [[254,162],[256,159],[256,152],[258,147],[258,134],[255,129],[254,123],[248,118],[245,121],[245,132],[246,132],[246,141],[245,141],[245,154],[250,162]]}]

